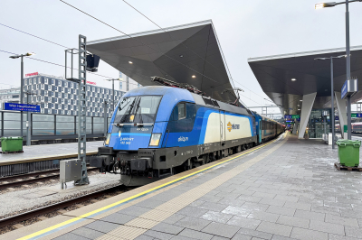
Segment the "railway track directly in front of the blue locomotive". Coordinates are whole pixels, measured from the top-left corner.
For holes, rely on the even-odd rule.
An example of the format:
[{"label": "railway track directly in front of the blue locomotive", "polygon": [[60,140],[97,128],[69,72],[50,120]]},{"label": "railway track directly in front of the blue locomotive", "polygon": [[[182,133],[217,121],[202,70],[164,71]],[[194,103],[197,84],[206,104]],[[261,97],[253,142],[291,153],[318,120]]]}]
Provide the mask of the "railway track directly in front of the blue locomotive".
[{"label": "railway track directly in front of the blue locomotive", "polygon": [[0,228],[5,227],[5,226],[10,226],[16,223],[20,223],[22,221],[31,219],[31,218],[36,218],[36,217],[41,217],[42,215],[45,215],[47,213],[51,213],[57,210],[61,210],[62,208],[68,208],[74,204],[79,204],[81,202],[85,202],[88,201],[90,199],[93,198],[99,198],[101,196],[110,194],[110,193],[114,193],[114,192],[125,192],[128,189],[126,189],[123,185],[119,185],[116,187],[111,187],[108,189],[102,189],[96,192],[92,192],[86,195],[82,195],[81,197],[77,197],[77,198],[71,198],[71,199],[67,199],[58,203],[54,203],[52,205],[49,206],[45,206],[42,208],[35,208],[33,210],[30,211],[26,211],[24,213],[20,213],[11,217],[5,217],[3,219],[0,219]]}]

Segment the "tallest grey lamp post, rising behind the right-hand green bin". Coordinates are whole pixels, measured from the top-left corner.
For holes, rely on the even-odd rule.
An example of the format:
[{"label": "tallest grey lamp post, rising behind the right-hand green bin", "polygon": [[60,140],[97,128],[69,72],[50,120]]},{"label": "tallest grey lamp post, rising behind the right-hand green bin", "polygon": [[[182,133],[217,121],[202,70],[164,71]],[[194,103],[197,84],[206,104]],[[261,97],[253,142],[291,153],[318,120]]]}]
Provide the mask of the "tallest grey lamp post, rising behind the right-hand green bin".
[{"label": "tallest grey lamp post, rising behind the right-hand green bin", "polygon": [[[362,2],[362,0],[346,0],[343,2],[331,2],[331,3],[321,3],[315,5],[316,9],[323,8],[323,7],[332,7],[335,5],[346,5],[346,76],[347,80],[350,79],[350,47],[349,47],[349,11],[348,11],[348,4],[354,2]],[[348,139],[352,139],[352,115],[351,115],[351,103],[350,103],[350,96],[347,97],[347,122],[348,122]],[[341,129],[342,131],[342,129]]]}]

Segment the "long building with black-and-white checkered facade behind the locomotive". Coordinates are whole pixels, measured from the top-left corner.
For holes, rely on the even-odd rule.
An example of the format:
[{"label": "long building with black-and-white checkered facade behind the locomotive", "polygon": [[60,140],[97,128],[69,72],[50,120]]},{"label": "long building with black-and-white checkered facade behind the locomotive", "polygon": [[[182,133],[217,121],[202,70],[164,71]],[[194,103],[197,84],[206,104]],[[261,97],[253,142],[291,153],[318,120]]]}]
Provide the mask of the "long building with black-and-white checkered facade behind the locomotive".
[{"label": "long building with black-and-white checkered facade behind the locomotive", "polygon": [[[78,84],[62,77],[37,72],[25,76],[24,103],[40,105],[43,114],[78,115]],[[27,93],[30,93],[29,96]],[[114,101],[117,103],[124,93],[115,90]],[[107,114],[111,115],[111,101],[112,89],[101,88],[95,82],[87,81],[87,115],[102,116],[105,102]]]}]

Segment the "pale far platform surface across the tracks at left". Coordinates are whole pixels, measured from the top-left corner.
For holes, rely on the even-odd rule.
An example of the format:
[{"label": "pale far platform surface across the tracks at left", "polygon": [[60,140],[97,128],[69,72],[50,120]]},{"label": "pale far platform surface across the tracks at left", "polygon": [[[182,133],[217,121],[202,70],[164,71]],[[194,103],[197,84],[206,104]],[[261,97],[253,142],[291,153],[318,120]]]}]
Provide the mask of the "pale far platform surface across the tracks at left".
[{"label": "pale far platform surface across the tracks at left", "polygon": [[[104,141],[87,142],[87,155],[98,152]],[[0,154],[0,166],[24,162],[41,162],[60,158],[76,158],[78,143],[55,143],[23,146],[24,152]]]}]

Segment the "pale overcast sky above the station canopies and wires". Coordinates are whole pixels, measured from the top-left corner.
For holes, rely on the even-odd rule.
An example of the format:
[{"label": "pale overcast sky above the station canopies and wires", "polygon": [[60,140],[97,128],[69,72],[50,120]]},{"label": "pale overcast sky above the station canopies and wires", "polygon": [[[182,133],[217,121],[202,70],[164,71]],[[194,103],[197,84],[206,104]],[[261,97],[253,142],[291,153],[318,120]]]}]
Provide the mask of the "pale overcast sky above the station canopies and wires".
[{"label": "pale overcast sky above the station canopies and wires", "polygon": [[[64,1],[122,32],[157,29],[154,23],[120,0]],[[318,0],[127,1],[161,27],[211,19],[230,73],[242,84],[235,83],[236,88],[244,90],[241,99],[246,106],[272,104],[264,99],[268,97],[254,77],[248,58],[346,46],[345,5],[315,10]],[[87,41],[121,35],[60,0],[1,0],[0,9],[0,88],[20,86],[20,60],[10,59],[10,54],[3,51],[36,53],[33,56],[36,60],[24,59],[24,74],[41,72],[63,76],[63,67],[38,60],[64,65],[65,48],[62,46],[78,48],[79,34],[87,36]],[[350,4],[349,14],[351,46],[362,45],[362,3]],[[98,74],[119,78],[119,71],[103,61],[100,61]],[[98,86],[111,88],[105,77],[87,75],[88,80],[97,82]],[[268,112],[278,113],[279,109],[270,108]]]}]

